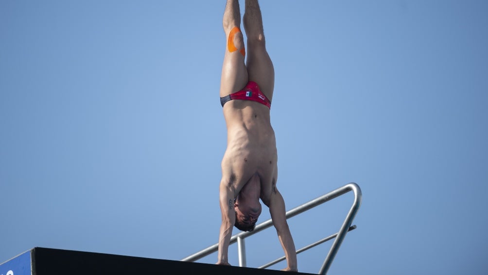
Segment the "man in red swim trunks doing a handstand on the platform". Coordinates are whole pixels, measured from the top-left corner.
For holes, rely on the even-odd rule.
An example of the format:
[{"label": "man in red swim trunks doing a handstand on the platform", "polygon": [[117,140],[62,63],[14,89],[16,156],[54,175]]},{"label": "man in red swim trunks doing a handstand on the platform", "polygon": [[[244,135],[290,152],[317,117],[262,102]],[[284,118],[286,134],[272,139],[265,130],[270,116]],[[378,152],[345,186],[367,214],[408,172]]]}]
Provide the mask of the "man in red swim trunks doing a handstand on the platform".
[{"label": "man in red swim trunks doing a handstand on the platform", "polygon": [[227,0],[224,12],[226,50],[220,88],[227,125],[227,149],[222,160],[220,207],[222,225],[217,264],[228,265],[227,250],[235,225],[252,231],[269,207],[273,225],[285,251],[287,267],[297,271],[295,244],[285,218],[285,202],[276,187],[276,140],[269,119],[274,69],[264,45],[263,21],[257,0],[245,1],[244,36],[238,0]]}]

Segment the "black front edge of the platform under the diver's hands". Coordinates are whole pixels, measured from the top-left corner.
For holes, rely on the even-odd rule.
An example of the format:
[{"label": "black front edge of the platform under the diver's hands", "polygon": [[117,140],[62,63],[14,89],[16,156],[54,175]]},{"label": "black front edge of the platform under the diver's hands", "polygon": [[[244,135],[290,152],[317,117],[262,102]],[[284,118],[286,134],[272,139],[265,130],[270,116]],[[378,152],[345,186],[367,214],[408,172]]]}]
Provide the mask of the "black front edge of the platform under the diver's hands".
[{"label": "black front edge of the platform under the diver's hands", "polygon": [[[36,247],[32,275],[284,275],[290,272]],[[319,267],[318,267],[319,268]],[[292,273],[307,274],[307,273]]]}]

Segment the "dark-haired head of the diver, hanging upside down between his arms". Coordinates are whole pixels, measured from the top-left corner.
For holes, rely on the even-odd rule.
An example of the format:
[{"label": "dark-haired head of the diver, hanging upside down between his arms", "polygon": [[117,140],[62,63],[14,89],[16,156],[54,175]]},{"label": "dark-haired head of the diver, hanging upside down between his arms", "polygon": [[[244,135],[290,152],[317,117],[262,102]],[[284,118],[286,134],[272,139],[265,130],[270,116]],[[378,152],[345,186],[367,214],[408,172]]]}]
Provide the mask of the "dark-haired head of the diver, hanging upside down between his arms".
[{"label": "dark-haired head of the diver, hanging upside down between his arms", "polygon": [[242,231],[253,231],[262,210],[259,200],[257,202],[245,202],[239,201],[238,198],[234,203],[234,210],[236,212],[234,226]]}]

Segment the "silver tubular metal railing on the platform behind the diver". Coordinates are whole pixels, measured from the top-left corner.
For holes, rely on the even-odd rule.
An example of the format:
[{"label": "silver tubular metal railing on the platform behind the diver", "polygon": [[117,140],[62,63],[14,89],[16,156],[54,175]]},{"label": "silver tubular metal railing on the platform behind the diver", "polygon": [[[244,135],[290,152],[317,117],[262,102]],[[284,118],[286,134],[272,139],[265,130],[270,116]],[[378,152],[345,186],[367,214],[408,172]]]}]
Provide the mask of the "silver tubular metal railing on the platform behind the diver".
[{"label": "silver tubular metal railing on the platform behind the diver", "polygon": [[[332,243],[332,246],[330,247],[329,253],[327,254],[327,257],[325,257],[324,264],[322,265],[322,268],[319,271],[319,274],[327,274],[327,271],[330,268],[330,265],[332,264],[332,261],[334,260],[334,257],[336,256],[337,252],[339,251],[339,247],[341,246],[344,238],[346,238],[346,234],[348,231],[351,231],[353,229],[356,229],[356,225],[351,226],[352,220],[354,220],[354,217],[356,216],[356,213],[359,210],[359,207],[361,206],[361,201],[362,201],[362,193],[361,193],[361,188],[356,183],[348,183],[342,187],[339,187],[335,189],[332,192],[329,192],[325,195],[322,195],[315,200],[312,200],[310,202],[306,202],[298,207],[295,207],[289,211],[286,212],[286,219],[289,219],[291,217],[294,217],[300,213],[303,213],[317,205],[320,205],[324,202],[330,201],[334,198],[337,198],[341,195],[346,194],[349,191],[354,192],[354,202],[352,203],[352,206],[347,213],[346,219],[344,220],[341,229],[339,232],[336,234],[333,234],[329,237],[323,238],[319,241],[316,241],[310,245],[307,245],[299,250],[297,250],[297,254],[301,253],[305,250],[308,250],[314,246],[317,246],[327,240],[330,240],[332,238],[335,238],[334,243]],[[256,233],[259,233],[260,231],[263,231],[264,229],[270,227],[273,225],[273,221],[271,219],[264,221],[263,223],[260,223],[256,225],[256,228],[252,232],[241,232],[238,233],[230,238],[230,244],[233,244],[237,242],[237,249],[238,249],[238,257],[239,257],[239,266],[246,266],[245,262],[245,246],[244,246],[244,238],[249,237],[251,235],[254,235]],[[219,250],[219,244],[216,243],[212,246],[209,246],[200,252],[197,252],[193,255],[190,255],[186,258],[183,258],[182,261],[196,261],[200,258],[203,258],[209,254],[212,254],[214,252],[217,252]],[[285,257],[278,258],[272,262],[269,262],[259,268],[266,268],[268,266],[271,266],[273,264],[276,264],[282,260],[284,260]]]}]

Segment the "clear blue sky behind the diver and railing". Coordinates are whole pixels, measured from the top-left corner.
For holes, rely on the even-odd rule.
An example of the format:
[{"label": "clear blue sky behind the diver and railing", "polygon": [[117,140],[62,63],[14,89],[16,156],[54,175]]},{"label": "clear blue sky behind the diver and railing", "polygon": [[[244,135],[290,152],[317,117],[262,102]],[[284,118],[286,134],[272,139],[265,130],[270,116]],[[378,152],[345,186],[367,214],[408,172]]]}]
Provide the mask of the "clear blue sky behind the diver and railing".
[{"label": "clear blue sky behind the diver and railing", "polygon": [[[218,241],[224,5],[0,1],[0,262],[36,246],[178,260]],[[488,2],[261,8],[286,208],[363,192],[328,274],[486,274]],[[288,220],[297,248],[351,202]],[[272,228],[246,249],[251,267],[283,255]]]}]

